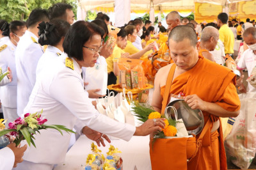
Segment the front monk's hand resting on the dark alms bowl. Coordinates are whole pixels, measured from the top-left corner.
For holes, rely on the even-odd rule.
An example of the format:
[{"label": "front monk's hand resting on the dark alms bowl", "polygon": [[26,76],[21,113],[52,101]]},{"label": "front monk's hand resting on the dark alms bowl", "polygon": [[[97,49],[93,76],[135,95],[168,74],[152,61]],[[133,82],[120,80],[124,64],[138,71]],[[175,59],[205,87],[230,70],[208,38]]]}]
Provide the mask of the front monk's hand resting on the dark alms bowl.
[{"label": "front monk's hand resting on the dark alms bowl", "polygon": [[197,95],[189,95],[185,97],[185,102],[188,103],[191,109],[200,109],[201,111],[206,110],[206,102]]}]

